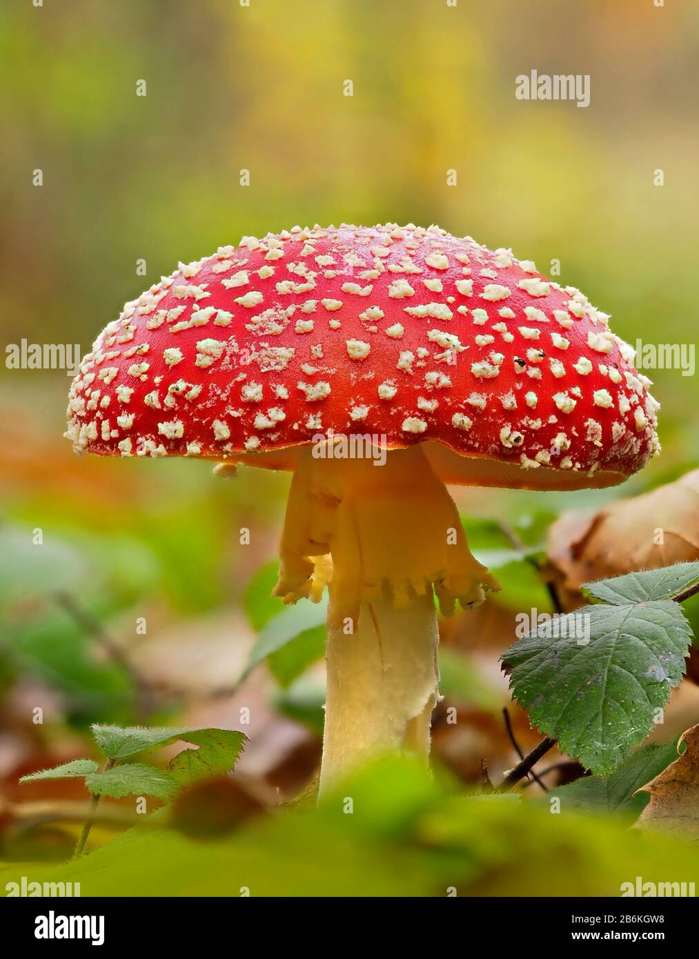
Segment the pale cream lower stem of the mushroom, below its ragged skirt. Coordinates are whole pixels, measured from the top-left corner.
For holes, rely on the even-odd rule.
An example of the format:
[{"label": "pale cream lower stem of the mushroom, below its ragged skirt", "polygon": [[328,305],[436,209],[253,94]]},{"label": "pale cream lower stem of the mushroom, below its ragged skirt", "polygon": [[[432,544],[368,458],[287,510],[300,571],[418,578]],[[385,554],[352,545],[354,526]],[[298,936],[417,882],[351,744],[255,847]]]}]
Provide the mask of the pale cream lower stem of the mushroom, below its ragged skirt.
[{"label": "pale cream lower stem of the mushroom, below its ragged skirt", "polygon": [[321,794],[381,753],[405,750],[427,763],[438,642],[432,596],[415,596],[400,608],[392,596],[362,603],[349,635],[331,609]]}]

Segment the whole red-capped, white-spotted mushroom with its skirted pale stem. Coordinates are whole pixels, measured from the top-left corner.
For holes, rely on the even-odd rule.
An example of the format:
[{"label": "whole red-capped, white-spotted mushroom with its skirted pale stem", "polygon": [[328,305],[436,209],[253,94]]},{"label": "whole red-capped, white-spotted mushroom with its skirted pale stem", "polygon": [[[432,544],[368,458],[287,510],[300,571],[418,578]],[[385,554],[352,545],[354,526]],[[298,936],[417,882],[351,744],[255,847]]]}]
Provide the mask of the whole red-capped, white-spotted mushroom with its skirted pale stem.
[{"label": "whole red-capped, white-spotted mushroom with its skirted pale stem", "polygon": [[449,614],[498,588],[444,484],[608,486],[659,449],[649,381],[607,320],[436,226],[244,237],[108,324],[66,435],[293,472],[275,594],[329,582],[324,789],[384,750],[427,757],[433,594]]}]

